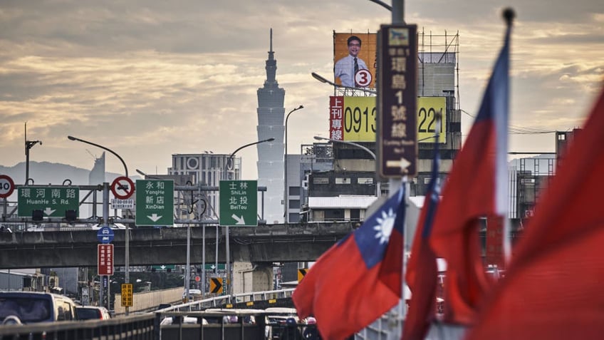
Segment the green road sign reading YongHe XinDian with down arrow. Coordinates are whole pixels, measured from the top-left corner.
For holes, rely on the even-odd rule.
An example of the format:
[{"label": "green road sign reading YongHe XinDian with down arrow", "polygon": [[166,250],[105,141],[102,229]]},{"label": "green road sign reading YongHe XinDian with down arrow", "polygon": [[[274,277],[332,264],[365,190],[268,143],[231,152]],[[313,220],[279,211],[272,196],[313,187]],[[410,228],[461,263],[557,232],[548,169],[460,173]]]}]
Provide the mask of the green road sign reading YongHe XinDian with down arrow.
[{"label": "green road sign reading YongHe XinDian with down arrow", "polygon": [[136,181],[136,225],[174,225],[174,180]]}]

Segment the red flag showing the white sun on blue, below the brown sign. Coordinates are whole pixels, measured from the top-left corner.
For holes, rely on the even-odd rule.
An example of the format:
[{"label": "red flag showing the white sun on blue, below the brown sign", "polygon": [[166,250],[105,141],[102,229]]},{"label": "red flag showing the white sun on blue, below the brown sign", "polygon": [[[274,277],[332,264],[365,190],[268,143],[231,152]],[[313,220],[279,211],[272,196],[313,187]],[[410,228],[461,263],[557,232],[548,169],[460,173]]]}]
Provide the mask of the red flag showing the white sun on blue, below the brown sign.
[{"label": "red flag showing the white sun on blue, below the brown sign", "polygon": [[323,339],[345,339],[399,301],[404,191],[321,255],[293,292],[298,316],[315,316]]}]

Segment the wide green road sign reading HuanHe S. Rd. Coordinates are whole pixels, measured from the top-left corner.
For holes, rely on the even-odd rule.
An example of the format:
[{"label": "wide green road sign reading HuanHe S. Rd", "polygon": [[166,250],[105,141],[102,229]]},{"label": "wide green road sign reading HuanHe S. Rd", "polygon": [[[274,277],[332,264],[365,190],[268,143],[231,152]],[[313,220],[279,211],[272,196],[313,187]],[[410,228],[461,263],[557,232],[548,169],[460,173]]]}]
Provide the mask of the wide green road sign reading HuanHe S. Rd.
[{"label": "wide green road sign reading HuanHe S. Rd", "polygon": [[33,210],[42,210],[43,217],[65,217],[66,210],[79,215],[79,187],[19,187],[19,217],[31,217]]}]

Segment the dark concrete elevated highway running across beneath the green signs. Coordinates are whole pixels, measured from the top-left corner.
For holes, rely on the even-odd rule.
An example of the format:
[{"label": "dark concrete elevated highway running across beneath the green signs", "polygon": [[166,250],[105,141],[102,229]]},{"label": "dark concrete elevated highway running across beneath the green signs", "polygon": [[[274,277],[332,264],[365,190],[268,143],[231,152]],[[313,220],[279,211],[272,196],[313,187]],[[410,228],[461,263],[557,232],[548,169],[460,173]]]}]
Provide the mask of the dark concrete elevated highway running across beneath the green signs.
[{"label": "dark concrete elevated highway running across beneath the green signs", "polygon": [[[231,261],[307,262],[356,227],[355,222],[320,222],[258,227],[229,227]],[[191,227],[191,264],[205,259],[214,262],[218,244],[218,262],[226,262],[224,227]],[[125,230],[114,230],[114,265],[125,264]],[[131,228],[130,266],[187,263],[187,227]],[[96,230],[59,230],[45,232],[0,233],[0,268],[96,267]]]}]

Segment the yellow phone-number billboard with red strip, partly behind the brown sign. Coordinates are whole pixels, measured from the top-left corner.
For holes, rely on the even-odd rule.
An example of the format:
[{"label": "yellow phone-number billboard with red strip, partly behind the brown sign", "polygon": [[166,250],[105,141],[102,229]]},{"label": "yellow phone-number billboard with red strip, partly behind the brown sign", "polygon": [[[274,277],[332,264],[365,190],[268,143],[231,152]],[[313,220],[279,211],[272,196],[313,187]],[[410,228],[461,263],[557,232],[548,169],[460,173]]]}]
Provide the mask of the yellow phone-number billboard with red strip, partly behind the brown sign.
[{"label": "yellow phone-number billboard with red strip, partly behind the brown sign", "polygon": [[[442,111],[439,143],[446,143],[447,98],[417,98],[417,142],[434,143],[435,113]],[[375,97],[330,96],[329,138],[347,142],[375,142]]]}]

